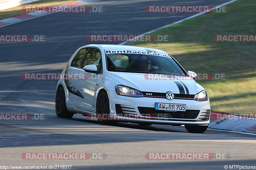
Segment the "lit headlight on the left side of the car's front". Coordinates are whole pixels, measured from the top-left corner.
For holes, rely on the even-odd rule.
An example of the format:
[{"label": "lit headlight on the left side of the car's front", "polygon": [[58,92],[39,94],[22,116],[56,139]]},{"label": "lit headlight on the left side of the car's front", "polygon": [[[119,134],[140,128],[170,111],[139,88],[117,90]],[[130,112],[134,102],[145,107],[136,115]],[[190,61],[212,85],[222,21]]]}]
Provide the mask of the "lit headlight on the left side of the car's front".
[{"label": "lit headlight on the left side of the car's front", "polygon": [[143,93],[139,90],[133,89],[125,85],[116,85],[116,94],[129,97],[144,97]]}]

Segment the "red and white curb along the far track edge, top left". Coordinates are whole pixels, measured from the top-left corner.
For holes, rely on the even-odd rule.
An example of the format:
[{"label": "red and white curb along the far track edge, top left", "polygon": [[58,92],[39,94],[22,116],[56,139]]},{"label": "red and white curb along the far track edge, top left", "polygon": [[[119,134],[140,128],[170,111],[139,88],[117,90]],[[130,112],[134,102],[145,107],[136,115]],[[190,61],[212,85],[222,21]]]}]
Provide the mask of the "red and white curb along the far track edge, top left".
[{"label": "red and white curb along the far track edge, top left", "polygon": [[[85,4],[89,4],[92,2],[97,2],[97,1],[101,1],[101,0],[79,0],[79,1],[73,1],[73,2],[69,2],[67,4],[62,4],[62,5],[58,5],[58,6],[81,6],[81,5],[85,5]],[[21,10],[21,9],[20,9]],[[26,14],[22,14],[16,17],[12,17],[12,18],[6,18],[6,19],[2,19],[0,20],[0,27],[4,27],[4,26],[8,26],[8,25],[12,25],[15,23],[19,23],[22,21],[26,21],[29,19],[33,19],[33,18],[38,18],[44,15],[49,15],[52,14],[53,12],[30,12],[30,13],[26,13]]]}]

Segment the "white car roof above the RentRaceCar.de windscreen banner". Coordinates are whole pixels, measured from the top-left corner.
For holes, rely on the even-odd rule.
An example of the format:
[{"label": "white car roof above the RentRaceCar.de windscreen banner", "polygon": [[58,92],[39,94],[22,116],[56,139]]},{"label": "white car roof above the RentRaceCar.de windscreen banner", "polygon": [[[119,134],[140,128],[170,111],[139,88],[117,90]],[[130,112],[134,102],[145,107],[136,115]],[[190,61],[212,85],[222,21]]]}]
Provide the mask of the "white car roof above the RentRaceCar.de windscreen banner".
[{"label": "white car roof above the RentRaceCar.de windscreen banner", "polygon": [[137,46],[128,46],[128,45],[110,45],[110,44],[89,44],[84,47],[98,47],[103,48],[104,50],[132,50],[132,51],[145,51],[145,52],[155,52],[155,53],[164,53],[168,54],[167,52],[155,49],[155,48],[145,48],[145,47],[137,47]]}]

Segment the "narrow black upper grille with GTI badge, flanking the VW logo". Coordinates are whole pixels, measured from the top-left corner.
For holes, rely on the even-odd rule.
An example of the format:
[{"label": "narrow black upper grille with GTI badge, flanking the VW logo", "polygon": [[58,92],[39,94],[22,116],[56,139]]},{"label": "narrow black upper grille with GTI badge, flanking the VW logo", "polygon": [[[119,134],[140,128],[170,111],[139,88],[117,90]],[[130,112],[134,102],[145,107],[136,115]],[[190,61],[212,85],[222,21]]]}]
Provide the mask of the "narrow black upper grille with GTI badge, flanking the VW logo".
[{"label": "narrow black upper grille with GTI badge, flanking the VW logo", "polygon": [[[142,92],[145,97],[152,97],[152,98],[166,98],[166,93],[159,93],[159,92]],[[186,100],[193,100],[194,94],[174,94],[174,99],[186,99]]]}]

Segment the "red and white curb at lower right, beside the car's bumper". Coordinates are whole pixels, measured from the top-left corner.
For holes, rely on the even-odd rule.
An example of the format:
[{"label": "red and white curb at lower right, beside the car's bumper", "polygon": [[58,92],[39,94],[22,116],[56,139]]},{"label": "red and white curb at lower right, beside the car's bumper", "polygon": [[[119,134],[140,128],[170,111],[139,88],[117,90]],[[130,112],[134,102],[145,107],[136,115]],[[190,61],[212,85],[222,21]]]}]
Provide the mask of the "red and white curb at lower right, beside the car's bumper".
[{"label": "red and white curb at lower right, beside the car's bumper", "polygon": [[243,117],[236,115],[230,115],[229,119],[218,119],[218,117],[223,118],[226,115],[228,114],[211,113],[209,128],[247,133],[256,132],[256,119],[245,120]]}]

